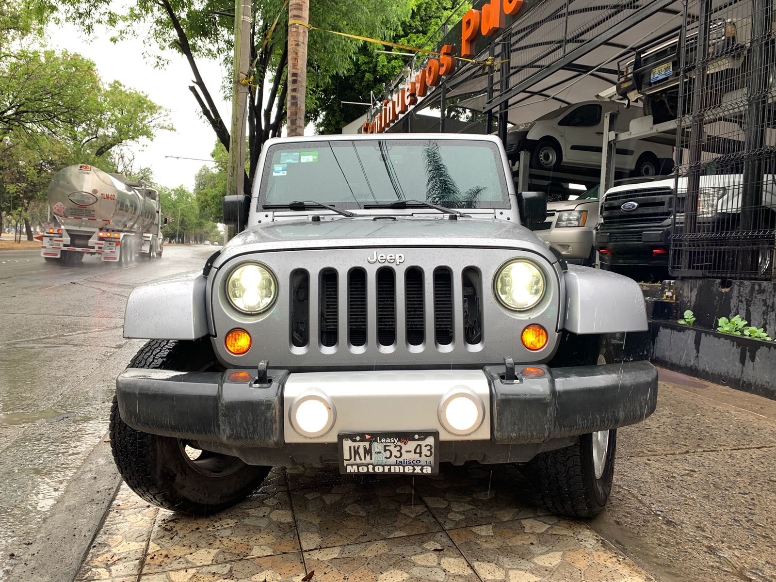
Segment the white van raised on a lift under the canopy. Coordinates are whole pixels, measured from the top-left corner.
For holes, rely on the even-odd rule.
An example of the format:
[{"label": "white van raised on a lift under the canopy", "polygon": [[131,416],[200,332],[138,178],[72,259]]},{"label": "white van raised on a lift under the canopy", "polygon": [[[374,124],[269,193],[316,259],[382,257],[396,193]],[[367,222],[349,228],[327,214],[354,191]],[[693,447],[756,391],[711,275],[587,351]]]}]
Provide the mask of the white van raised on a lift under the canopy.
[{"label": "white van raised on a lift under the canopy", "polygon": [[[531,123],[511,127],[507,152],[516,161],[520,151],[531,152],[531,166],[557,170],[560,165],[584,168],[601,166],[605,113],[618,111],[616,130],[627,131],[630,122],[643,116],[641,107],[611,101],[584,101],[546,113]],[[618,144],[615,170],[634,176],[670,174],[674,170],[673,148],[642,140]]]}]

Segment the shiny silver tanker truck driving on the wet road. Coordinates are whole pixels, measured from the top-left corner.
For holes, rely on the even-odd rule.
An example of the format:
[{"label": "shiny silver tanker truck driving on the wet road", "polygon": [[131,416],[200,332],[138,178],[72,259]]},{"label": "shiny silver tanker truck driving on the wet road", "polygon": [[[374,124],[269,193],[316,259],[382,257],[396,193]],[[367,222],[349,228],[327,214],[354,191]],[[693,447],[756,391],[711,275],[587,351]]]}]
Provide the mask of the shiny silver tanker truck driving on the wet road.
[{"label": "shiny silver tanker truck driving on the wet road", "polygon": [[161,257],[159,193],[123,175],[72,165],[49,184],[52,221],[43,227],[40,254],[47,262],[75,264],[84,255],[129,262],[135,255]]}]

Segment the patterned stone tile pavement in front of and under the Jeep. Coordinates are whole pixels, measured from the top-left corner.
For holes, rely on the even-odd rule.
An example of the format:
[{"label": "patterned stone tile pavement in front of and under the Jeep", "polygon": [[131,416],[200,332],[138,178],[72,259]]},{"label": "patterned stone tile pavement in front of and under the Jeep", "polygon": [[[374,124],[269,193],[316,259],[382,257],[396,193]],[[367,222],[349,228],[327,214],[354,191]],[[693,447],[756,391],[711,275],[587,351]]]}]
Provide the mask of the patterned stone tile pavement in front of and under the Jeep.
[{"label": "patterned stone tile pavement in front of and under the Jeep", "polygon": [[279,468],[234,508],[190,518],[122,485],[78,580],[653,580],[584,523],[526,495],[519,473],[502,467],[398,479]]}]

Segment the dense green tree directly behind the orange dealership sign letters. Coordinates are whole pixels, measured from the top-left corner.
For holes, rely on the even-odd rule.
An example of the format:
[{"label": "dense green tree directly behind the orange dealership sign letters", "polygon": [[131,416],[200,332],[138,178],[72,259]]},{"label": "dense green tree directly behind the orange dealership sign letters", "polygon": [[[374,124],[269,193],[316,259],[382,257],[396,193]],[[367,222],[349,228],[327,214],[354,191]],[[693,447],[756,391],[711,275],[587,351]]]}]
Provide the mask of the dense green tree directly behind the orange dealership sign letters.
[{"label": "dense green tree directly behind the orange dealership sign letters", "polygon": [[[442,34],[437,31],[445,22],[457,22],[471,8],[469,2],[460,0],[414,0],[412,4],[411,12],[400,22],[394,42],[428,50],[438,48]],[[314,87],[316,99],[312,101],[313,107],[308,107],[308,115],[315,121],[318,133],[341,133],[343,126],[366,111],[365,106],[342,102],[371,102],[372,93],[382,95],[386,85],[400,74],[409,57],[376,52],[383,49],[372,43],[363,44],[351,66],[339,74],[328,75]],[[423,58],[419,54],[417,64]]]}]

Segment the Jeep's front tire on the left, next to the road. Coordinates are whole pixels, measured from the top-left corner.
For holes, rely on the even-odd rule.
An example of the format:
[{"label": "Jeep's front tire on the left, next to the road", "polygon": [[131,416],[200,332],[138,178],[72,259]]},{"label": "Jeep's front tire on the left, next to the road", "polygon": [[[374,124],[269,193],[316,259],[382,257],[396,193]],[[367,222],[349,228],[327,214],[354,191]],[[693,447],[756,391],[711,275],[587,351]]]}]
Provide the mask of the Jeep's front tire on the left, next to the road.
[{"label": "Jeep's front tire on the left, next to the road", "polygon": [[[215,362],[208,339],[151,340],[129,367],[193,372],[213,368]],[[196,442],[137,431],[122,420],[116,397],[110,442],[116,466],[136,494],[182,513],[206,515],[228,508],[251,494],[271,469],[201,450]]]}]

